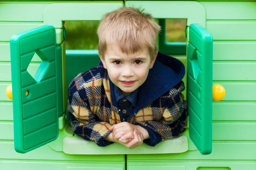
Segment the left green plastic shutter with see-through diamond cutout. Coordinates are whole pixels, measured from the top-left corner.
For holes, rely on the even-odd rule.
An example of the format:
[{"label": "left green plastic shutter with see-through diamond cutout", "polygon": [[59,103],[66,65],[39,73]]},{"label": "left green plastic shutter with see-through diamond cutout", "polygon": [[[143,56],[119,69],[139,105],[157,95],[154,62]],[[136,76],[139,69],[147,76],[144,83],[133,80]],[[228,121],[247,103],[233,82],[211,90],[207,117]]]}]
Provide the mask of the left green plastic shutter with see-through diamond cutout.
[{"label": "left green plastic shutter with see-through diamond cutout", "polygon": [[[58,115],[63,106],[55,28],[41,26],[15,34],[10,49],[14,145],[17,152],[26,153],[58,137]],[[35,53],[42,62],[33,78],[27,68]]]}]

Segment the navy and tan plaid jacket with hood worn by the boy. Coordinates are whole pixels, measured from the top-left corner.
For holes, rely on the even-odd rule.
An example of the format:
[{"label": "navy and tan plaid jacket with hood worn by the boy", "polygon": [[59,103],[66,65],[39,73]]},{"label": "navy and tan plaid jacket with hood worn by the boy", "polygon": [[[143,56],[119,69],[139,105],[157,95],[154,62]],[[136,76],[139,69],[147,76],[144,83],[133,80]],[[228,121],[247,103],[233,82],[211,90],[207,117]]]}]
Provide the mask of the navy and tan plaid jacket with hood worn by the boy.
[{"label": "navy and tan plaid jacket with hood worn by the boy", "polygon": [[[162,55],[164,54],[158,54],[158,60],[166,57]],[[171,59],[172,62],[180,64],[174,58]],[[187,125],[187,105],[181,94],[185,89],[181,81],[184,71],[175,72],[175,69],[182,69],[183,65],[179,68],[177,63],[172,63],[176,68],[172,67],[175,69],[170,71],[158,60],[140,88],[134,114],[127,119],[127,122],[140,125],[148,131],[150,138],[145,139],[144,142],[150,146],[155,146],[168,138],[181,136]],[[169,72],[166,73],[163,68]],[[160,76],[161,72],[165,74]],[[169,76],[176,79],[173,80]],[[167,83],[157,82],[157,79],[163,78],[171,80],[164,81]],[[113,83],[102,62],[99,62],[97,68],[92,68],[74,78],[68,91],[67,111],[70,114],[74,133],[102,147],[113,143],[104,140],[111,133],[109,131],[111,125],[122,122],[111,91],[113,91]]]}]

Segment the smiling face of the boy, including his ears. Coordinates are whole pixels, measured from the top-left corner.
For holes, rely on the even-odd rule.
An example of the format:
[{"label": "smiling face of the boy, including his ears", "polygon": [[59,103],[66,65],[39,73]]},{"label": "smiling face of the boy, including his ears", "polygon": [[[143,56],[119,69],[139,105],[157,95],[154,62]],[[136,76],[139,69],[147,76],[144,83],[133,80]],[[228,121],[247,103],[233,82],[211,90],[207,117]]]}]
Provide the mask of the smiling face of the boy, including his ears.
[{"label": "smiling face of the boy, including his ears", "polygon": [[105,57],[100,58],[111,81],[126,96],[145,82],[156,56],[157,54],[152,59],[147,49],[135,54],[125,54],[110,48],[106,50]]}]

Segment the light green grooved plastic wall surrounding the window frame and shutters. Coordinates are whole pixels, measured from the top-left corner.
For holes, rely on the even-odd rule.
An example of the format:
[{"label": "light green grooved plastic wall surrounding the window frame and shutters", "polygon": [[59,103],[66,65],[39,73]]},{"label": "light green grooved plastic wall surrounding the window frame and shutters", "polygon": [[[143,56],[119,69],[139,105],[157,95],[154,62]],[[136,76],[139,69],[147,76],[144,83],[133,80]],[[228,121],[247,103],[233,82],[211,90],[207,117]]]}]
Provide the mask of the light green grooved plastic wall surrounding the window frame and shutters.
[{"label": "light green grooved plastic wall surrounding the window frame and shutters", "polygon": [[[58,149],[52,149],[51,144],[26,154],[16,153],[12,101],[5,94],[12,83],[9,40],[13,34],[44,25],[44,10],[53,1],[0,1],[0,169],[255,170],[256,3],[233,1],[199,1],[206,11],[206,29],[214,40],[213,84],[221,84],[226,90],[221,102],[213,102],[213,150],[207,156],[193,147],[175,154],[68,155],[55,151]],[[35,73],[40,59],[32,61]]]}]

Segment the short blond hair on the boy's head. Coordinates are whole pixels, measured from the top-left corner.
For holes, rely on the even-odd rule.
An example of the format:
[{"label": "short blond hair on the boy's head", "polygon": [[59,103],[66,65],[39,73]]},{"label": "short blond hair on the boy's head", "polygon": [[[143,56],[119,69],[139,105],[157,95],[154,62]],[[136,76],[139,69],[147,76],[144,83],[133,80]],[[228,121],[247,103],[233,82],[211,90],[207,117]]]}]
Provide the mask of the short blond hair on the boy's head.
[{"label": "short blond hair on the boy's head", "polygon": [[157,52],[160,26],[151,14],[141,8],[122,7],[105,14],[97,31],[99,54],[104,57],[107,47],[119,48],[122,53],[134,54],[148,48]]}]

